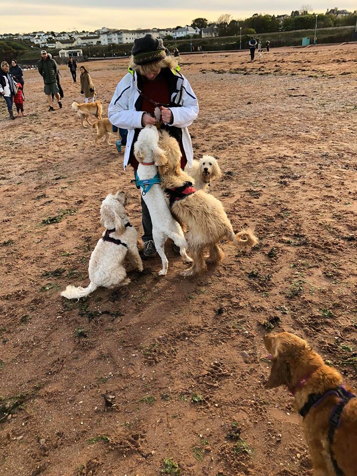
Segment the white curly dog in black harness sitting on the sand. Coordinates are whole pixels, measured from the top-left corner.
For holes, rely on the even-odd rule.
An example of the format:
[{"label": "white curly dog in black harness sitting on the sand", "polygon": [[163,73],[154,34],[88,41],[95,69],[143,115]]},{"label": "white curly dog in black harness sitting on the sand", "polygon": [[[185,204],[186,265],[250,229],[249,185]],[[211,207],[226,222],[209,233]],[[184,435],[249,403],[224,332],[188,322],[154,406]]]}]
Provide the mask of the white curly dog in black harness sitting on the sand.
[{"label": "white curly dog in black harness sitting on the sand", "polygon": [[139,271],[143,270],[137,249],[137,232],[130,224],[125,212],[124,192],[111,193],[103,200],[100,209],[101,223],[106,228],[89,260],[90,284],[87,288],[67,286],[60,294],[67,299],[88,296],[97,288],[114,288],[130,283],[123,266],[124,258]]}]

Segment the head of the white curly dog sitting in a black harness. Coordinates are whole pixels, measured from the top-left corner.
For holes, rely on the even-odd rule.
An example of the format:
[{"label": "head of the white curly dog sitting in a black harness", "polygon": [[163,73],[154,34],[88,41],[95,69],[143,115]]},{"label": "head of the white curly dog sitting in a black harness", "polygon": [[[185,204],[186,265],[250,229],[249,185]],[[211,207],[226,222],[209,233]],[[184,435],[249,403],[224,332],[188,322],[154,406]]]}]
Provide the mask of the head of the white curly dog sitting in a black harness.
[{"label": "head of the white curly dog sitting in a black harness", "polygon": [[124,192],[117,192],[115,195],[110,193],[103,200],[100,214],[101,224],[107,230],[116,229],[116,232],[121,235],[125,231],[125,208],[126,196]]}]

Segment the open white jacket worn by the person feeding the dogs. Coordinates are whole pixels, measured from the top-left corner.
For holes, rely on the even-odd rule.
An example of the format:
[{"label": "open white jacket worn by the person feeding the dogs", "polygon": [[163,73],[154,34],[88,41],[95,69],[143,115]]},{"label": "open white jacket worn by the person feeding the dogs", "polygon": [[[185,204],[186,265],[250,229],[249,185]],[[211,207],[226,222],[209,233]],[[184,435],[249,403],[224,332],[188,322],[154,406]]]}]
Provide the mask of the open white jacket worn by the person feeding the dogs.
[{"label": "open white jacket worn by the person feeding the dogs", "polygon": [[[174,116],[173,123],[169,124],[169,126],[176,126],[182,130],[182,145],[188,166],[191,168],[193,150],[187,127],[197,118],[198,101],[187,79],[177,70],[173,74],[177,78],[177,83],[176,90],[171,95],[171,103],[178,106],[169,108]],[[124,170],[129,162],[135,129],[142,129],[141,118],[144,113],[135,109],[135,103],[138,98],[137,73],[129,69],[129,72],[119,82],[108,107],[108,119],[110,122],[117,127],[128,130],[124,153]]]}]

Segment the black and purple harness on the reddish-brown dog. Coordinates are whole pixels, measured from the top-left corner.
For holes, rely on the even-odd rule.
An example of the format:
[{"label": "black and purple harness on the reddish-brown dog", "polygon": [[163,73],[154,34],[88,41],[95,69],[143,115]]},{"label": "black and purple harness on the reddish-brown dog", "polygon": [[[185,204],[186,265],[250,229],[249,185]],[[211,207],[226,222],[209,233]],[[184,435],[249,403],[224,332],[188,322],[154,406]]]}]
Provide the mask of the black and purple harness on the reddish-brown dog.
[{"label": "black and purple harness on the reddish-brown dog", "polygon": [[330,397],[331,395],[335,395],[336,397],[338,397],[339,401],[332,409],[332,412],[329,418],[330,429],[328,432],[328,439],[329,439],[329,446],[330,446],[330,456],[331,456],[331,461],[334,466],[336,475],[344,476],[344,472],[341,470],[341,468],[337,464],[337,461],[332,455],[332,444],[334,441],[335,432],[337,428],[339,428],[341,423],[342,412],[344,411],[349,401],[352,400],[353,398],[356,398],[356,395],[346,390],[344,385],[340,385],[339,387],[335,389],[328,390],[324,394],[310,393],[310,395],[308,396],[307,402],[301,408],[301,410],[299,411],[299,414],[304,418],[309,413],[311,408],[317,407],[317,405],[322,403],[326,398]]}]

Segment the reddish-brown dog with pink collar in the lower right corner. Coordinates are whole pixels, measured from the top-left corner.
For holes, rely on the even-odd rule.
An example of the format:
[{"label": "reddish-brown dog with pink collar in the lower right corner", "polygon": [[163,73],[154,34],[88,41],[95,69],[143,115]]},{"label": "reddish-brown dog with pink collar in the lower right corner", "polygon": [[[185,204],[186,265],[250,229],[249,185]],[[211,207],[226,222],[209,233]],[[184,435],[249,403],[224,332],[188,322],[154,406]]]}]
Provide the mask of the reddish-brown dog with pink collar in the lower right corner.
[{"label": "reddish-brown dog with pink collar in the lower right corner", "polygon": [[356,397],[343,408],[340,420],[336,419],[331,443],[329,439],[330,417],[335,406],[342,402],[336,390],[348,393],[352,389],[342,386],[340,372],[325,365],[307,342],[294,334],[269,334],[264,337],[264,344],[273,361],[267,388],[287,385],[295,396],[297,411],[305,415],[302,424],[314,476],[356,476]]}]

